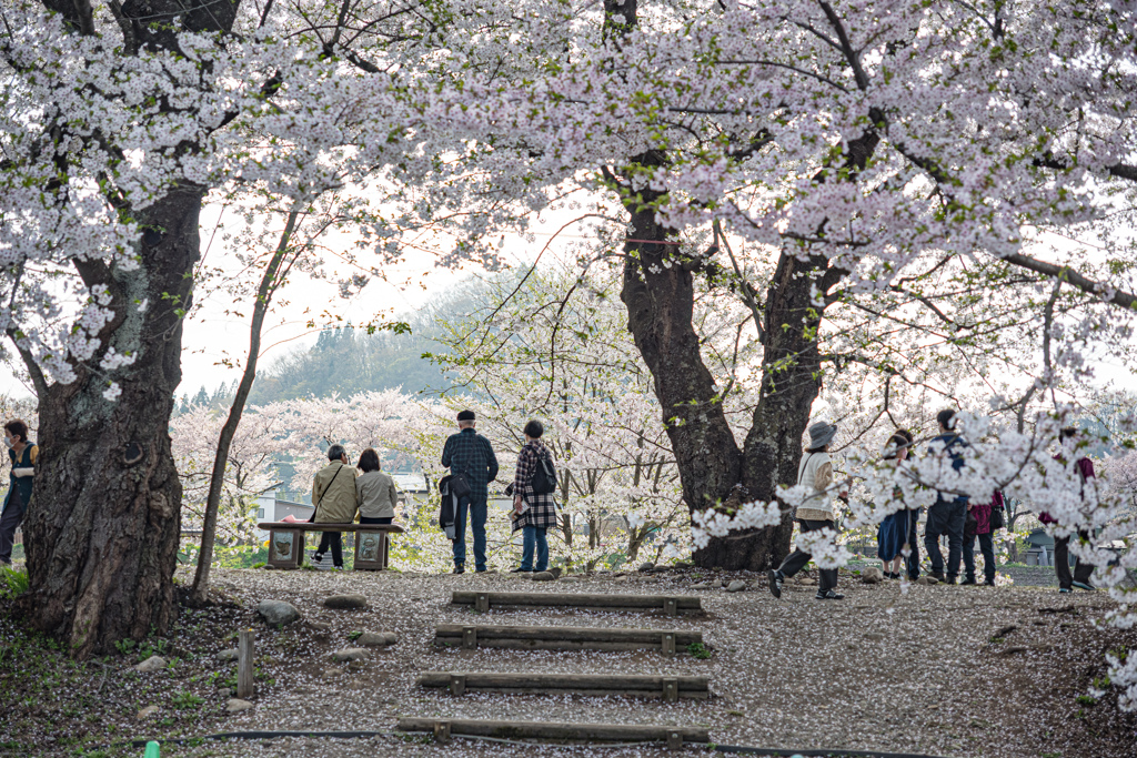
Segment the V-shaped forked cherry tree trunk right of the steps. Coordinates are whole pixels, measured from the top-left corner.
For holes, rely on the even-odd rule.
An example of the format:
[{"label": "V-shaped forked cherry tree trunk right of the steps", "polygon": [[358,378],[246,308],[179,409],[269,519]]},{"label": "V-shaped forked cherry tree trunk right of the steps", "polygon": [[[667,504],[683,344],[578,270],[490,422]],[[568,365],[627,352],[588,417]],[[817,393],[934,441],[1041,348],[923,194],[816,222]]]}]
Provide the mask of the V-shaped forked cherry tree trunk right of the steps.
[{"label": "V-shaped forked cherry tree trunk right of the steps", "polygon": [[[648,193],[637,209],[629,203],[632,241],[625,245],[621,298],[663,406],[683,498],[691,510],[720,506],[728,511],[772,500],[779,484],[797,481],[802,438],[821,389],[816,334],[824,307],[812,302],[813,288],[827,291],[841,272],[821,257],[799,260],[782,253],[763,314],[762,397],[739,450],[691,323],[694,266],[666,244],[669,230],[649,207],[657,199]],[[777,527],[712,538],[694,559],[706,567],[770,568],[789,551],[791,533],[787,514]]]}]

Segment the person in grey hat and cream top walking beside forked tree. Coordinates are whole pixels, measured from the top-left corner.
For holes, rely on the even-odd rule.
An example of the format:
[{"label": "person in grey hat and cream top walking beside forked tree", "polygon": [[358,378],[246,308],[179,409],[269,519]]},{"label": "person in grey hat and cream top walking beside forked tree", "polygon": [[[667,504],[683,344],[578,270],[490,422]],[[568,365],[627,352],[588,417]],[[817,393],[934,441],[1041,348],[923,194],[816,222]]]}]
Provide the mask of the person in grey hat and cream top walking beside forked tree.
[{"label": "person in grey hat and cream top walking beside forked tree", "polygon": [[[802,463],[797,468],[797,483],[806,484],[813,489],[814,494],[806,500],[806,505],[797,509],[797,520],[802,532],[815,532],[823,528],[835,528],[836,516],[833,515],[833,501],[829,489],[833,484],[833,464],[829,458],[829,443],[837,434],[836,424],[818,422],[810,426],[810,447],[802,457]],[[838,497],[845,499],[848,492],[843,491]],[[781,597],[782,584],[787,578],[797,574],[813,558],[812,555],[797,548],[782,565],[769,574],[770,592],[775,597]],[[818,583],[818,600],[840,600],[845,595],[835,591],[837,586],[837,569],[822,568],[821,581]]]}]

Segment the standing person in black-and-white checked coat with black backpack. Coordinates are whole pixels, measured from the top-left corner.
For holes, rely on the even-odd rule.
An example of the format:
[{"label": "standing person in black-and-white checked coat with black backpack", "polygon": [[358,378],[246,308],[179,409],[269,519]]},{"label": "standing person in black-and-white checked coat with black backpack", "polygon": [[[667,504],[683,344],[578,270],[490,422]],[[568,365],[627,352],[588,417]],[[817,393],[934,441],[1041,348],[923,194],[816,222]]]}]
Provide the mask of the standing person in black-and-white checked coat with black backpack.
[{"label": "standing person in black-and-white checked coat with black backpack", "polygon": [[[521,566],[514,574],[532,574],[548,570],[549,543],[545,532],[557,525],[556,501],[553,493],[557,488],[553,453],[541,442],[545,426],[541,422],[525,424],[525,447],[517,455],[517,474],[513,480],[513,531],[523,530]],[[536,563],[534,563],[534,556]]]}]

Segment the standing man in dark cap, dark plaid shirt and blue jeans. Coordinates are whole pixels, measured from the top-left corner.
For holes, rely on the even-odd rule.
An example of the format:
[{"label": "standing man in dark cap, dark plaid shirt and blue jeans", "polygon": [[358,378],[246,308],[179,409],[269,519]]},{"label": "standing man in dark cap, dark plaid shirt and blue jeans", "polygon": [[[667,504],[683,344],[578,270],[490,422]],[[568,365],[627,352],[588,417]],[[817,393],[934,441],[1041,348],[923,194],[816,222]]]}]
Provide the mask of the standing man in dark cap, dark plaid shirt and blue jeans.
[{"label": "standing man in dark cap, dark plaid shirt and blue jeans", "polygon": [[489,483],[497,478],[497,457],[490,441],[474,431],[474,411],[458,414],[458,433],[451,434],[442,448],[442,465],[450,474],[465,476],[470,493],[458,498],[454,524],[454,573],[466,570],[466,514],[474,533],[474,567],[485,570],[485,511]]}]

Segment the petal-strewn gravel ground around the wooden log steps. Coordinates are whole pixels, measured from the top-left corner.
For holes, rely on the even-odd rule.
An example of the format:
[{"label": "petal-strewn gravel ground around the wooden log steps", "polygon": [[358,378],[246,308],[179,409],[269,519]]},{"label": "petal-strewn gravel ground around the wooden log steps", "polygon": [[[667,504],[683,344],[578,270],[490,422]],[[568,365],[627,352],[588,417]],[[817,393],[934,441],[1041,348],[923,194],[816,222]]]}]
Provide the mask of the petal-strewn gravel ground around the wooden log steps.
[{"label": "petal-strewn gravel ground around the wooden log steps", "polygon": [[[695,569],[697,570],[697,569]],[[791,583],[775,601],[760,577],[702,572],[529,583],[509,575],[404,576],[317,572],[218,570],[215,585],[239,600],[238,618],[258,628],[263,668],[275,680],[251,710],[219,716],[214,731],[390,730],[400,716],[703,725],[721,744],[847,748],[937,756],[1131,758],[1137,718],[1115,705],[1076,701],[1104,672],[1110,647],[1137,647],[1137,633],[1097,631],[1112,607],[1103,594],[1059,595],[1023,588],[850,584],[840,602],[819,602],[815,588]],[[690,592],[712,576],[752,581],[752,589],[697,591],[705,616],[657,613],[512,611],[479,615],[449,605],[456,589],[491,591]],[[322,600],[358,592],[366,610],[329,610]],[[305,620],[267,630],[252,618],[262,599],[287,600]],[[714,655],[697,660],[649,652],[437,650],[438,623],[698,628]],[[329,628],[313,627],[326,624]],[[1006,627],[1014,626],[1011,631]],[[364,661],[332,664],[351,631],[395,631],[400,641]],[[991,639],[1001,634],[997,641]],[[229,647],[218,641],[216,649]],[[709,701],[665,703],[622,698],[467,694],[423,691],[428,670],[705,674]],[[218,697],[219,701],[221,698]],[[1115,702],[1115,698],[1111,700]],[[219,702],[218,702],[219,705]],[[1080,711],[1080,713],[1079,713]],[[241,745],[168,748],[205,756],[529,755],[523,748],[456,742],[451,748],[392,738],[274,740]],[[541,748],[551,755],[551,748]],[[665,755],[654,749],[562,750],[565,755]]]}]

